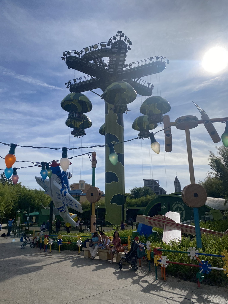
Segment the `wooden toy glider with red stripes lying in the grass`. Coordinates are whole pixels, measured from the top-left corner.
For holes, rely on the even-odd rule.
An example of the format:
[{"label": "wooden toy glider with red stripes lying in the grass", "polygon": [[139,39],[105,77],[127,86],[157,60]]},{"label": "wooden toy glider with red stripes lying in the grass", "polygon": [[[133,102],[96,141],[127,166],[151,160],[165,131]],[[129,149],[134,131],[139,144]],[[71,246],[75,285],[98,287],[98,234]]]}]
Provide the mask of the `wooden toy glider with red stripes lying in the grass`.
[{"label": "wooden toy glider with red stripes lying in the grass", "polygon": [[[152,226],[152,227],[157,227],[157,228],[162,228],[162,229],[164,228],[164,225],[168,225],[176,230],[181,230],[181,233],[195,235],[195,226],[176,223],[173,219],[170,219],[168,216],[164,216],[161,214],[157,214],[153,217],[145,216],[145,215],[137,215],[136,221],[138,223],[141,223],[141,224],[144,224],[147,226]],[[201,234],[203,234],[203,233],[214,234],[219,237],[223,237],[224,234],[228,234],[228,229],[225,232],[219,232],[219,231],[214,231],[214,230],[210,230],[210,229],[206,229],[206,228],[200,228],[200,233]]]}]

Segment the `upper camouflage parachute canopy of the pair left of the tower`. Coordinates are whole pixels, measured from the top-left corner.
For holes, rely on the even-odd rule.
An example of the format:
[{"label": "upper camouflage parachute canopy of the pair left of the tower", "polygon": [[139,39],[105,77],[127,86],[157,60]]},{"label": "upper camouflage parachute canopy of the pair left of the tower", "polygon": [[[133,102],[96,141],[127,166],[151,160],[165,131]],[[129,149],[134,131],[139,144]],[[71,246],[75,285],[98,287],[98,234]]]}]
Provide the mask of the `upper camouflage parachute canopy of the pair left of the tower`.
[{"label": "upper camouflage parachute canopy of the pair left of the tower", "polygon": [[61,107],[67,112],[87,113],[93,106],[84,94],[70,93],[61,101]]}]

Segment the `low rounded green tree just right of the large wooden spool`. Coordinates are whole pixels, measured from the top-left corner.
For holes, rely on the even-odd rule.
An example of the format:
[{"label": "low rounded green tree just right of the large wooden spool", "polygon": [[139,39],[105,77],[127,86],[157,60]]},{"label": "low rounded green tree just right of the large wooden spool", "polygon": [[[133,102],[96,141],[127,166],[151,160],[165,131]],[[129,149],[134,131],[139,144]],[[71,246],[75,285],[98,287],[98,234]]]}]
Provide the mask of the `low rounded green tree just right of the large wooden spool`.
[{"label": "low rounded green tree just right of the large wooden spool", "polygon": [[204,181],[198,181],[198,184],[203,186],[207,192],[208,197],[224,198],[222,195],[222,182],[217,177],[212,177],[211,173],[207,173]]}]

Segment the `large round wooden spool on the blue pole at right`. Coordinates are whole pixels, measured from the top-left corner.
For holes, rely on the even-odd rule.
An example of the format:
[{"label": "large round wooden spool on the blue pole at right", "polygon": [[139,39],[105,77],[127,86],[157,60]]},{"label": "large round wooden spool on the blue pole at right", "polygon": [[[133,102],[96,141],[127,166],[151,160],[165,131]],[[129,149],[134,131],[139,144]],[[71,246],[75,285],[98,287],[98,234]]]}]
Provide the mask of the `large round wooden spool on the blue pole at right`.
[{"label": "large round wooden spool on the blue pole at right", "polygon": [[190,184],[182,190],[183,202],[192,208],[202,207],[207,200],[206,190],[199,184]]}]

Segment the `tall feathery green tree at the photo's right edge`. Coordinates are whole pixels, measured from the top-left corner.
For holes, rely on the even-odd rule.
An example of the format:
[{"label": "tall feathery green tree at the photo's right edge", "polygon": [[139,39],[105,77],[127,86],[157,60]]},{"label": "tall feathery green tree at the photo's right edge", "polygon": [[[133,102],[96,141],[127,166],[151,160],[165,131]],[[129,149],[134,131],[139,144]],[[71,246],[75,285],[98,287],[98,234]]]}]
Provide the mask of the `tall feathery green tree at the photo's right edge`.
[{"label": "tall feathery green tree at the photo's right edge", "polygon": [[226,203],[228,200],[228,149],[224,146],[216,147],[217,154],[209,151],[209,165],[212,173],[221,182],[221,194],[224,195]]}]

